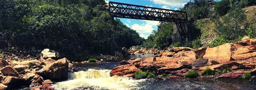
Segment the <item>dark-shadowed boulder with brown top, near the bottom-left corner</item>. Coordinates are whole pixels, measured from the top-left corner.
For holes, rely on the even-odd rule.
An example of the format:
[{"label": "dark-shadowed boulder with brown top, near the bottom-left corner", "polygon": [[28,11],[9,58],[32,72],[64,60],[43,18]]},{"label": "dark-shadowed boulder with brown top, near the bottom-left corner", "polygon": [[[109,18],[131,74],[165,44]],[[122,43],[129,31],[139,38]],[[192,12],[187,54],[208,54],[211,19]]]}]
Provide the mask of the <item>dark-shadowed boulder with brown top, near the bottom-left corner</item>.
[{"label": "dark-shadowed boulder with brown top, near the bottom-left corner", "polygon": [[6,85],[6,89],[19,88],[25,85],[23,79],[14,76],[7,76],[2,80],[2,84]]}]

